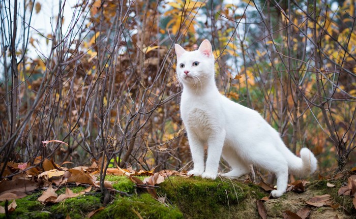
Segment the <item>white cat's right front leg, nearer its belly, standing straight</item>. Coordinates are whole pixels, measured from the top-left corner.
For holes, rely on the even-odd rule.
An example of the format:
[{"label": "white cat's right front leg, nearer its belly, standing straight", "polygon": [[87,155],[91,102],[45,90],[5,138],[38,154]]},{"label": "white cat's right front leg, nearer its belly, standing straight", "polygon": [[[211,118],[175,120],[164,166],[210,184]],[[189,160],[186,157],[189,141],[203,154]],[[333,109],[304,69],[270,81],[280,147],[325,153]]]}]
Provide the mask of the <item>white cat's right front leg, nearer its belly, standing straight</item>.
[{"label": "white cat's right front leg, nearer its belly, standing straight", "polygon": [[210,136],[208,139],[206,167],[201,177],[207,179],[215,179],[217,177],[225,135],[226,131],[222,130],[221,132],[217,132],[216,135]]}]

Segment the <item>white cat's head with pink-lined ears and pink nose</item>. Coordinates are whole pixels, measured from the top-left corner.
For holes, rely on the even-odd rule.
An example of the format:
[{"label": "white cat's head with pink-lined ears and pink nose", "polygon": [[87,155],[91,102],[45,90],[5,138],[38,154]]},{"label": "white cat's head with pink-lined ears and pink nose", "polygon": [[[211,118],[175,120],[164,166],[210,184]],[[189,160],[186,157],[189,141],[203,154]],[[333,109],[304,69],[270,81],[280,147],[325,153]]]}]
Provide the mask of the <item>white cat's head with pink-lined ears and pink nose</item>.
[{"label": "white cat's head with pink-lined ears and pink nose", "polygon": [[204,40],[198,50],[186,51],[175,44],[177,55],[176,72],[185,85],[203,85],[206,80],[214,80],[214,55],[209,40]]}]

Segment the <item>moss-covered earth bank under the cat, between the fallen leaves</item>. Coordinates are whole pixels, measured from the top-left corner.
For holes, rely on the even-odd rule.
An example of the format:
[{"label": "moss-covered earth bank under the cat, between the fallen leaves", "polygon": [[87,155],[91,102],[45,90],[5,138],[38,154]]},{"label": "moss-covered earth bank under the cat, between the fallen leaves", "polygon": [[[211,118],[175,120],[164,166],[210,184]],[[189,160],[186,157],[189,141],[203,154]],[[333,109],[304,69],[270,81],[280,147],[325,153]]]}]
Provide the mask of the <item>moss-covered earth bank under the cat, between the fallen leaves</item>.
[{"label": "moss-covered earth bank under the cat, between the fallen leaves", "polygon": [[[143,180],[144,177],[139,177]],[[154,199],[144,189],[138,189],[136,184],[126,176],[107,176],[113,182],[116,190],[129,196],[116,194],[112,201],[91,218],[259,218],[256,200],[268,196],[258,185],[242,183],[239,180],[217,178],[216,180],[200,177],[171,176],[159,184],[156,189],[159,197],[165,197],[161,203]],[[285,210],[297,212],[301,208],[310,209],[310,219],[333,218],[336,213],[339,218],[356,218],[356,210],[352,198],[339,196],[338,189],[345,184],[346,178],[338,180],[318,180],[307,184],[304,193],[288,192],[278,199],[270,199],[263,203],[268,218],[283,218]],[[327,186],[327,182],[335,187]],[[75,193],[84,187],[71,187]],[[65,192],[65,188],[57,194]],[[76,198],[66,199],[58,204],[43,205],[37,201],[42,191],[16,200],[17,208],[10,218],[85,218],[88,213],[102,207],[102,195],[86,194]],[[312,207],[306,204],[310,198],[329,194],[340,207],[334,210],[329,206]],[[4,202],[0,202],[4,206]],[[345,210],[348,213],[345,213]],[[0,219],[6,218],[0,214]]]}]

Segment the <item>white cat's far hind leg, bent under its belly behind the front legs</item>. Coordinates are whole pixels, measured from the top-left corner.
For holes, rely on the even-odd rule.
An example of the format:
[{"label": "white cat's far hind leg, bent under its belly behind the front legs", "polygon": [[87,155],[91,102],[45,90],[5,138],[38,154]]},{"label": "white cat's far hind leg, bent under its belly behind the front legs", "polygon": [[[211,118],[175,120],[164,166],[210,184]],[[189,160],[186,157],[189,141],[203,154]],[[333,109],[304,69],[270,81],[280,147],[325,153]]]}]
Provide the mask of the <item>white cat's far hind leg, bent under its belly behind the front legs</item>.
[{"label": "white cat's far hind leg, bent under its belly behind the front legs", "polygon": [[233,148],[224,147],[222,151],[222,157],[230,165],[231,171],[227,173],[221,173],[220,176],[237,178],[250,173],[251,169],[253,172],[252,165],[246,164],[243,161],[241,161],[238,154]]}]

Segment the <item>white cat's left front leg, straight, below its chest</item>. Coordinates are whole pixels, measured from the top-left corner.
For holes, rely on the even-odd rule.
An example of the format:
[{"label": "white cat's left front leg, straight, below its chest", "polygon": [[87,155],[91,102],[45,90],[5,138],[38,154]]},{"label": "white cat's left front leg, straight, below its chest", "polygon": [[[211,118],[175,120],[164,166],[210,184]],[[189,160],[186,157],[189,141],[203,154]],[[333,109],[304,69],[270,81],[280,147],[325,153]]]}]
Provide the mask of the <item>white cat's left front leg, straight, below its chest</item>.
[{"label": "white cat's left front leg, straight, below its chest", "polygon": [[204,172],[204,145],[192,132],[187,130],[190,152],[194,163],[193,170],[188,175],[201,176]]}]

